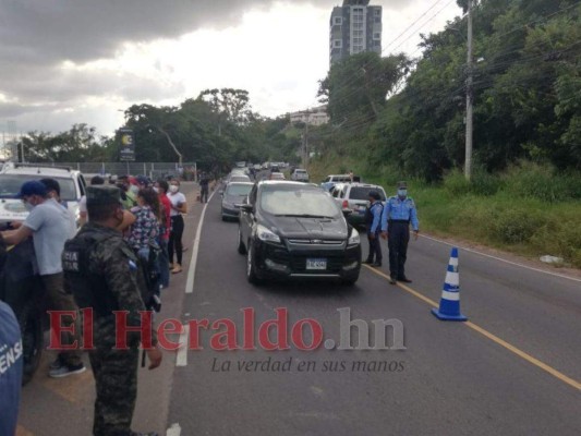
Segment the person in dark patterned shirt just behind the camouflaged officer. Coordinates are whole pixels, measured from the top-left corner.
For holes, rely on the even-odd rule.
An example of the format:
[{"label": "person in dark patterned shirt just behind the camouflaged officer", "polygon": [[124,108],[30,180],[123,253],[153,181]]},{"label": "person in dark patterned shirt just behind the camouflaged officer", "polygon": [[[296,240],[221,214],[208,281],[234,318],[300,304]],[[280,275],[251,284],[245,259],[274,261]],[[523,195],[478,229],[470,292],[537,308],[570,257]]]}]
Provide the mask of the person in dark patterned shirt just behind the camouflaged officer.
[{"label": "person in dark patterned shirt just behind the camouflaged officer", "polygon": [[156,245],[159,234],[159,199],[150,187],[144,187],[137,193],[137,206],[131,209],[135,222],[131,226],[126,238],[130,246],[144,259],[149,257],[150,244]]}]

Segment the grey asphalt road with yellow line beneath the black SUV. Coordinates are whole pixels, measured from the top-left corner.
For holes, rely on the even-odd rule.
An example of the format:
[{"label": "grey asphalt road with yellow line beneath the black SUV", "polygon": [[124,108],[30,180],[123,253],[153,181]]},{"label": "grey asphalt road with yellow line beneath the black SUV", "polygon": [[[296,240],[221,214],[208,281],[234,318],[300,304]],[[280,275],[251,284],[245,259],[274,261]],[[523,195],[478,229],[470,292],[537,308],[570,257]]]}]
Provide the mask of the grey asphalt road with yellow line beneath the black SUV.
[{"label": "grey asphalt road with yellow line beneath the black SUV", "polygon": [[[411,244],[414,282],[407,289],[367,268],[353,288],[256,288],[235,251],[238,225],[219,219],[217,199],[206,210],[184,320],[230,318],[240,327],[241,308],[253,307],[259,325],[286,307],[289,325],[313,318],[325,338],[337,340],[338,308],[350,307],[352,318],[370,325],[400,319],[407,350],[213,351],[215,331],[202,330],[205,349],[190,351],[186,366],[174,372],[168,424],[179,424],[181,434],[580,434],[580,282],[461,251],[462,311],[471,324],[443,323],[412,292],[439,301],[449,247],[421,239]],[[290,361],[291,370],[268,368],[267,359]],[[264,371],[245,371],[252,361]],[[300,371],[301,362],[312,362],[302,367],[308,371]],[[384,362],[387,371],[376,371]]]}]

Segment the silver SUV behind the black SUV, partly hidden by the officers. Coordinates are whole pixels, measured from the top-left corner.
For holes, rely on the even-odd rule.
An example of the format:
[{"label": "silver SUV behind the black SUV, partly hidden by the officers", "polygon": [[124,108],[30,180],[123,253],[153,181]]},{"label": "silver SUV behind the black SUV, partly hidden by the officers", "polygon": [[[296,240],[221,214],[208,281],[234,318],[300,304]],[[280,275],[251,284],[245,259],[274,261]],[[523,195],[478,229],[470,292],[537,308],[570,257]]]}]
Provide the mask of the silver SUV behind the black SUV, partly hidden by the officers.
[{"label": "silver SUV behind the black SUV, partly hidden by the officers", "polygon": [[377,191],[382,202],[386,201],[385,190],[376,184],[367,183],[339,183],[331,191],[331,196],[342,209],[352,210],[348,221],[358,228],[365,227],[365,209],[368,204],[370,191]]}]

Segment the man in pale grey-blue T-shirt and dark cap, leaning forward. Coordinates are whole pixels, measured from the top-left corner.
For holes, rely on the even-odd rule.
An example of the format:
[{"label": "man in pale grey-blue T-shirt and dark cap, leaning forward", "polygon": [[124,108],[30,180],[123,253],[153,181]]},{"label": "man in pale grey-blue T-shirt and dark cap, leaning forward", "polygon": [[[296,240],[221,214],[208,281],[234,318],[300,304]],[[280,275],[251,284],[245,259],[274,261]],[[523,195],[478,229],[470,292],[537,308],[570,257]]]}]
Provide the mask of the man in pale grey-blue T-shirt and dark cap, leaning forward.
[{"label": "man in pale grey-blue T-shirt and dark cap, leaning forward", "polygon": [[[63,289],[61,254],[64,242],[71,235],[69,213],[49,198],[47,187],[39,181],[25,182],[19,193],[25,207],[31,211],[26,220],[16,230],[2,232],[4,242],[16,245],[33,237],[38,274],[53,311],[76,312],[73,295]],[[71,316],[61,318],[63,327],[62,343],[71,346],[78,341],[78,329]],[[74,332],[73,332],[74,331]],[[85,371],[77,349],[68,349],[59,353],[50,364],[49,376],[66,377]]]}]

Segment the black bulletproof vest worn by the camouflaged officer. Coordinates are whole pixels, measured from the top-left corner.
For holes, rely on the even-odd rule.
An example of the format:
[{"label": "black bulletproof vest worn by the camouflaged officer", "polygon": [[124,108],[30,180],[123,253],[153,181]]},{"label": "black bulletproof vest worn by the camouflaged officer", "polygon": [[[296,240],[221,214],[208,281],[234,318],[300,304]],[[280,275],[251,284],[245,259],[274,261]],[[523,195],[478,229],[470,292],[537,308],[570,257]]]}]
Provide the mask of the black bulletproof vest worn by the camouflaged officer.
[{"label": "black bulletproof vest worn by the camouflaged officer", "polygon": [[78,308],[92,307],[95,317],[110,316],[119,310],[105,276],[92,271],[89,266],[93,250],[110,238],[110,234],[81,233],[64,243],[62,253],[66,290],[73,293]]}]

